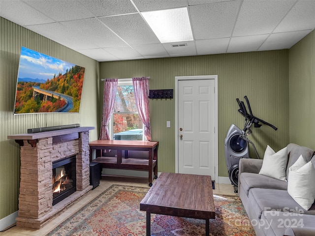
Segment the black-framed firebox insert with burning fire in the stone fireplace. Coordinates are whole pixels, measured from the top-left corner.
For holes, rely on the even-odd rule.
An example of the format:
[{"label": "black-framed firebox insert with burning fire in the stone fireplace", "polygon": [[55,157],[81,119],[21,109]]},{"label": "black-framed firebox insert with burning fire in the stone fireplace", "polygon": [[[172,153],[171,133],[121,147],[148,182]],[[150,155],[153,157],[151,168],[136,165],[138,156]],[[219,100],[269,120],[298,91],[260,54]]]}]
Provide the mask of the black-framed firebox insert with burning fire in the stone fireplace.
[{"label": "black-framed firebox insert with burning fire in the stone fireplace", "polygon": [[53,206],[76,191],[76,157],[53,162]]}]

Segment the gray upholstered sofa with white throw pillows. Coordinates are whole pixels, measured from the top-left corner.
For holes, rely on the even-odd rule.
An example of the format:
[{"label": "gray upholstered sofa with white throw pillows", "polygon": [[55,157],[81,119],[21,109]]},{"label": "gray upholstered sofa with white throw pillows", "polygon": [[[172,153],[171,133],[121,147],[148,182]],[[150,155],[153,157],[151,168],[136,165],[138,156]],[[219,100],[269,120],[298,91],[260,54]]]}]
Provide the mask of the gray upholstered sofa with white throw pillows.
[{"label": "gray upholstered sofa with white throw pillows", "polygon": [[[287,145],[287,168],[303,155],[312,159],[315,151]],[[287,182],[258,174],[262,159],[243,158],[239,162],[238,194],[257,236],[315,236],[315,203],[303,209],[287,192]],[[315,184],[315,183],[313,183]]]}]

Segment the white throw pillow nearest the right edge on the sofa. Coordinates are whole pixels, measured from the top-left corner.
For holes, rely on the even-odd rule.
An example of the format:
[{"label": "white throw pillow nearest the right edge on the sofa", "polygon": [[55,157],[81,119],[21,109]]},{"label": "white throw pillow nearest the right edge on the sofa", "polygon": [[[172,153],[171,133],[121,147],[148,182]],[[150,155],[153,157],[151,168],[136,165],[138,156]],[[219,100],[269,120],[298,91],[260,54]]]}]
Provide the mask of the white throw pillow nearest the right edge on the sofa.
[{"label": "white throw pillow nearest the right edge on the sofa", "polygon": [[315,201],[315,169],[302,155],[289,168],[287,192],[301,207],[308,210]]}]

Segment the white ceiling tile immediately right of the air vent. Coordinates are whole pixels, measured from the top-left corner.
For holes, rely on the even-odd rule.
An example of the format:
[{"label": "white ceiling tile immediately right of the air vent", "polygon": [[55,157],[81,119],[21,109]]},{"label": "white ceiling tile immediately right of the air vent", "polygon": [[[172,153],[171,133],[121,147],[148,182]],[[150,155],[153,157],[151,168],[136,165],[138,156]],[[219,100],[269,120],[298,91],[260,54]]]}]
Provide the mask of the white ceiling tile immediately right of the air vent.
[{"label": "white ceiling tile immediately right of the air vent", "polygon": [[225,53],[230,38],[196,40],[197,54],[210,55]]}]

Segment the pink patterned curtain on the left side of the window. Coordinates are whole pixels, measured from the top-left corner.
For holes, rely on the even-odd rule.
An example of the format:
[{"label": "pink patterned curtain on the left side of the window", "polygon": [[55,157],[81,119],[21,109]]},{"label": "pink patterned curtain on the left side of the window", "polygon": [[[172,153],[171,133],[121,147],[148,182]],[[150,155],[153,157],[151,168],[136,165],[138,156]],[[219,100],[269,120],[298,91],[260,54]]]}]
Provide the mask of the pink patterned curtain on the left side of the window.
[{"label": "pink patterned curtain on the left side of the window", "polygon": [[99,140],[110,140],[108,123],[114,111],[118,79],[106,79],[104,82],[103,116]]}]

